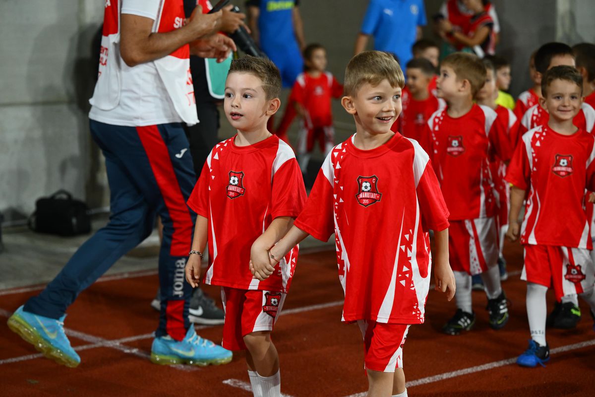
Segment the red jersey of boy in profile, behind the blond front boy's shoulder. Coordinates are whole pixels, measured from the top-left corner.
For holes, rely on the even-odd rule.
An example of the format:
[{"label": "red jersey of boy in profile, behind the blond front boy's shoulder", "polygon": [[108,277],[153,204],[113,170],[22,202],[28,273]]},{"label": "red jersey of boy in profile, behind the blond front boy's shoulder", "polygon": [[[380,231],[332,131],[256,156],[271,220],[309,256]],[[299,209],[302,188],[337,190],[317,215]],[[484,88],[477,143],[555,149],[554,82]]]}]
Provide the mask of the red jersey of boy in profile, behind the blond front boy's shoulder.
[{"label": "red jersey of boy in profile, behind the blond front boy's shoulder", "polygon": [[447,109],[428,120],[431,159],[440,181],[449,220],[467,220],[496,215],[497,199],[490,172],[490,158],[510,158],[506,128],[496,112],[473,105],[462,117]]}]

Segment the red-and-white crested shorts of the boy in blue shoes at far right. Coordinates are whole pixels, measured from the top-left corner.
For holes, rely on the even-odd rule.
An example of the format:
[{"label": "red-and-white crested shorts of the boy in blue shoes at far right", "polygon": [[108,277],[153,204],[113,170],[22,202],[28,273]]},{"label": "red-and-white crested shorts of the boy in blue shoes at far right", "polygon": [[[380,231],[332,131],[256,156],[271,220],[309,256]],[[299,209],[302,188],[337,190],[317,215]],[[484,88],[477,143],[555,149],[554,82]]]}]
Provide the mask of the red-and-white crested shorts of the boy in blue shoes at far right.
[{"label": "red-and-white crested shorts of the boy in blue shoes at far right", "polygon": [[595,282],[592,252],[585,248],[525,245],[521,280],[551,288],[556,299],[589,292]]}]

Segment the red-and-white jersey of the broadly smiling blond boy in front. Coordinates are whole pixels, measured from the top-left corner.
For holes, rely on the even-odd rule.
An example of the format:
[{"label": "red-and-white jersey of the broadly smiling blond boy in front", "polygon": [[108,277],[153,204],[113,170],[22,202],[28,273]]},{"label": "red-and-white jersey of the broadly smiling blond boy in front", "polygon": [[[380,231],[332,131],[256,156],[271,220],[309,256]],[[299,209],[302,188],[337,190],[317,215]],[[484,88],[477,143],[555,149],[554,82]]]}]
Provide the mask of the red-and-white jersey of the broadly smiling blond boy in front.
[{"label": "red-and-white jersey of the broadly smiling blond boy in front", "polygon": [[361,150],[354,138],[327,156],[295,226],[322,241],[335,233],[343,321],[422,323],[428,229],[448,227],[440,186],[415,140],[396,133]]}]

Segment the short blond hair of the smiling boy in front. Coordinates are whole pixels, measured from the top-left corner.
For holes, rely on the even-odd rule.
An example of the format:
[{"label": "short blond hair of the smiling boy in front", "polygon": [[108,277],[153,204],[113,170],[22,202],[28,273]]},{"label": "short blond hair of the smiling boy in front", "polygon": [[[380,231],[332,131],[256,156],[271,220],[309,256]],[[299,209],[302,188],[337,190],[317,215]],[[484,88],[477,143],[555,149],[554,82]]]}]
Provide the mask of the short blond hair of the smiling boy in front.
[{"label": "short blond hair of the smiling boy in front", "polygon": [[392,87],[405,87],[405,76],[399,62],[387,52],[360,52],[351,58],[345,69],[345,95],[356,96],[365,83],[377,86],[384,79]]}]

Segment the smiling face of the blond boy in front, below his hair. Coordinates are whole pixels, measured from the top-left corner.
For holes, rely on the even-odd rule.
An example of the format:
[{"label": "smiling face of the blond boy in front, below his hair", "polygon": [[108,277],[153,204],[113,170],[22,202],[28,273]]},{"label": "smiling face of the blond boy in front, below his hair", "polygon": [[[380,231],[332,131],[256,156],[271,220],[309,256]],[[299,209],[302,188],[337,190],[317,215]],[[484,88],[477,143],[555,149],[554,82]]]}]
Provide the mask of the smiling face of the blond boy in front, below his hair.
[{"label": "smiling face of the blond boy in front, below his hair", "polygon": [[356,95],[344,96],[341,103],[355,117],[358,132],[386,134],[402,110],[401,89],[386,79],[377,86],[365,83]]}]

